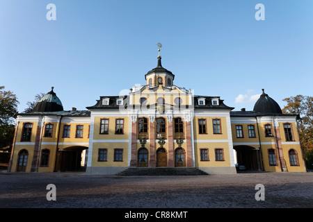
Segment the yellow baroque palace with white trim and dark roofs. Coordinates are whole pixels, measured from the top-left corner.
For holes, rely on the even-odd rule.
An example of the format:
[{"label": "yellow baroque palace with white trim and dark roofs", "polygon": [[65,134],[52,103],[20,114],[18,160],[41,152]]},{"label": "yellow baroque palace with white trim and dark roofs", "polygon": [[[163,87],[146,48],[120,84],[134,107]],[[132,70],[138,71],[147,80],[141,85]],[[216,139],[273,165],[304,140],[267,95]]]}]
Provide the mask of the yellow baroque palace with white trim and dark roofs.
[{"label": "yellow baroque palace with white trim and dark roofs", "polygon": [[305,172],[297,116],[264,92],[252,111],[175,85],[161,65],[145,85],[100,96],[87,110],[63,110],[54,88],[16,119],[8,171],[115,174],[137,167],[197,168],[209,174]]}]

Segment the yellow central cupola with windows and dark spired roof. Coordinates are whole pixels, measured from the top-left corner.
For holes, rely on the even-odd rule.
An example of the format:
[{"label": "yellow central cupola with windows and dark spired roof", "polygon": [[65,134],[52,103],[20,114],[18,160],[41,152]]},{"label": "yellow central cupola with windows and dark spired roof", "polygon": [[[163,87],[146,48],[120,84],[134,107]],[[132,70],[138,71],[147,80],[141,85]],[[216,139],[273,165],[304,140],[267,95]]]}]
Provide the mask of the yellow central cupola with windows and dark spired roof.
[{"label": "yellow central cupola with windows and dark spired roof", "polygon": [[171,71],[168,69],[164,69],[161,65],[161,56],[160,56],[160,49],[159,56],[158,56],[158,65],[154,69],[150,70],[145,74],[145,80],[147,80],[147,85],[152,87],[156,87],[158,85],[163,86],[171,86],[173,85],[172,81],[175,78],[175,75],[172,74]]}]

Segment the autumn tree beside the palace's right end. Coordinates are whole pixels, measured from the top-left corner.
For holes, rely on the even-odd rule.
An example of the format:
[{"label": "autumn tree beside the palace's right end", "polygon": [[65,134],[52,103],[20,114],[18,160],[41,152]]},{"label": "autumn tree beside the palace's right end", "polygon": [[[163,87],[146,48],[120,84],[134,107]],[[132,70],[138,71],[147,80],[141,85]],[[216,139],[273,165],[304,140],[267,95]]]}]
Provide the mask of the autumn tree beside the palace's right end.
[{"label": "autumn tree beside the palace's right end", "polygon": [[313,96],[291,96],[285,98],[287,105],[282,112],[285,114],[298,114],[298,126],[303,155],[307,162],[307,167],[312,167],[313,163]]}]

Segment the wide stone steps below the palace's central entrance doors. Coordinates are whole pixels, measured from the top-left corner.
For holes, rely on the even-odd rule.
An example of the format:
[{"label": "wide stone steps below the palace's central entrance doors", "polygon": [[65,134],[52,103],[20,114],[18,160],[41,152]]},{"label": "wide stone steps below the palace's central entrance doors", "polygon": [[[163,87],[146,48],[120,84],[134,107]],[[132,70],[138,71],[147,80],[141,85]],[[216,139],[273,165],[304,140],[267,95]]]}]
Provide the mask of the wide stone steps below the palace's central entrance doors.
[{"label": "wide stone steps below the palace's central entrance doors", "polygon": [[129,167],[117,174],[118,176],[193,176],[208,175],[198,168],[186,167]]}]

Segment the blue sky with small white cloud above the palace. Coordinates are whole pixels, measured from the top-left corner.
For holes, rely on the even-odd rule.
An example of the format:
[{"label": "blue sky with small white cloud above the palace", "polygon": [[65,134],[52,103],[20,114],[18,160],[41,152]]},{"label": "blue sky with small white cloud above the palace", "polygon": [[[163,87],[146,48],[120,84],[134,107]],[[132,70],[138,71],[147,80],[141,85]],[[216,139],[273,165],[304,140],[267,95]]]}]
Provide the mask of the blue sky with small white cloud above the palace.
[{"label": "blue sky with small white cloud above the palace", "polygon": [[65,110],[86,110],[145,85],[158,42],[175,85],[234,110],[252,110],[262,88],[281,108],[313,96],[312,0],[0,0],[0,85],[19,112],[51,86]]}]

